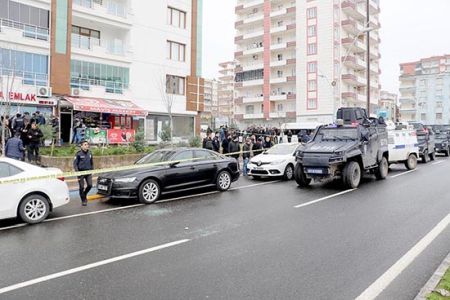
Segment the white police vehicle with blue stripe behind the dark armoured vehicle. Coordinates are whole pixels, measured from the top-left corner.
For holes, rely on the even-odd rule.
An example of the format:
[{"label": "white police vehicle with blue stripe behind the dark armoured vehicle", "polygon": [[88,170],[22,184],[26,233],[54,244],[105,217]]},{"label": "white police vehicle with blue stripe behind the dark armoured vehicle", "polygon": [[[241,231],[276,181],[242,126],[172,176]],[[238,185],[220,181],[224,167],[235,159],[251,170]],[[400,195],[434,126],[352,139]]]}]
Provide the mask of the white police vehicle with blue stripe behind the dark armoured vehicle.
[{"label": "white police vehicle with blue stripe behind the dark armoured vehicle", "polygon": [[417,167],[419,143],[414,129],[388,130],[389,164],[405,164],[408,170]]}]

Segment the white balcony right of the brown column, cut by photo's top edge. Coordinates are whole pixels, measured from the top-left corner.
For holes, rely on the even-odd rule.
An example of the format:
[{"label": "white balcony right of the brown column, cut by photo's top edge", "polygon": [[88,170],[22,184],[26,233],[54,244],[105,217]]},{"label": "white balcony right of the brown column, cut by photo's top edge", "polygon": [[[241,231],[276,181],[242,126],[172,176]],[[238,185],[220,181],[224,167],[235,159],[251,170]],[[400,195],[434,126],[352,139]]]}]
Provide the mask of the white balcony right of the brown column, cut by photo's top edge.
[{"label": "white balcony right of the brown column, cut by photo's top edge", "polygon": [[100,5],[93,0],[73,0],[73,16],[124,29],[132,26],[126,5],[112,1],[102,1]]}]

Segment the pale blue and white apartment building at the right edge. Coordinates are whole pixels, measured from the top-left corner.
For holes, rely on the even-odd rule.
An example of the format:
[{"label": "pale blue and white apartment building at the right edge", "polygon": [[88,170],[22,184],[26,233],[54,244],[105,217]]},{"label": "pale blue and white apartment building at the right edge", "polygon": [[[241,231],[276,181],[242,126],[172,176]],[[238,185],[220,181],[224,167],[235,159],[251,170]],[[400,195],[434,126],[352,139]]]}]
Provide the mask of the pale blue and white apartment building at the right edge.
[{"label": "pale blue and white apartment building at the right edge", "polygon": [[450,124],[450,55],[400,64],[402,121]]}]

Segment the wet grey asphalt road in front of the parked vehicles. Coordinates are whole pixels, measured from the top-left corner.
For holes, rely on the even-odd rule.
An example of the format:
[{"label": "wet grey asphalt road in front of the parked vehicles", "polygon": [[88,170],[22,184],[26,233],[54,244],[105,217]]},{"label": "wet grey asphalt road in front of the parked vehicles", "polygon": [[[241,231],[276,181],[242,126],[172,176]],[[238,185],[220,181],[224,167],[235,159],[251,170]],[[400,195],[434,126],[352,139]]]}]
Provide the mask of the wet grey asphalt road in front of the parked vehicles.
[{"label": "wet grey asphalt road in front of the parked vehicles", "polygon": [[242,178],[151,206],[74,194],[43,224],[0,222],[0,299],[413,299],[450,250],[449,170],[354,191]]}]

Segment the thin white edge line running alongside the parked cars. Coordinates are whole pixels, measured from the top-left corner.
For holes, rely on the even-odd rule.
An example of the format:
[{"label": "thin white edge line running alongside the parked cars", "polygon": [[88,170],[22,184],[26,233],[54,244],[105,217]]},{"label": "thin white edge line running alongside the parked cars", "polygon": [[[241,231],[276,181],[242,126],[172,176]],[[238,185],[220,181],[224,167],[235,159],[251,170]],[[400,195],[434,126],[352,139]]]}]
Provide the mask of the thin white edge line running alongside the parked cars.
[{"label": "thin white edge line running alongside the parked cars", "polygon": [[[280,181],[270,181],[270,182],[263,182],[263,183],[256,183],[256,184],[238,186],[238,187],[235,187],[235,188],[231,188],[230,191],[241,190],[241,189],[246,189],[246,188],[252,188],[252,187],[257,187],[257,186],[261,186],[261,185],[267,185],[267,184],[276,183],[276,182],[280,182]],[[212,195],[212,194],[217,194],[217,193],[220,193],[220,192],[219,191],[212,191],[212,192],[206,192],[206,193],[201,193],[201,194],[181,196],[181,197],[161,200],[161,201],[156,202],[156,204],[170,202],[170,201],[175,201],[175,200],[181,200],[181,199],[189,199],[189,198],[194,198],[194,197]],[[96,214],[107,213],[107,212],[118,211],[118,210],[124,210],[124,209],[129,209],[129,208],[134,208],[134,207],[140,207],[140,206],[145,206],[145,204],[127,205],[127,206],[108,208],[108,209],[103,209],[103,210],[96,210],[96,211],[91,211],[91,212],[87,212],[87,213],[69,215],[69,216],[64,216],[64,217],[57,217],[57,218],[44,220],[43,223],[60,221],[60,220],[66,220],[66,219],[73,219],[73,218],[79,218],[79,217],[85,217],[85,216],[96,215]],[[13,226],[0,228],[0,231],[20,228],[20,227],[25,227],[25,226],[28,226],[28,224],[21,223],[21,224],[17,224],[17,225],[13,225]]]}]

